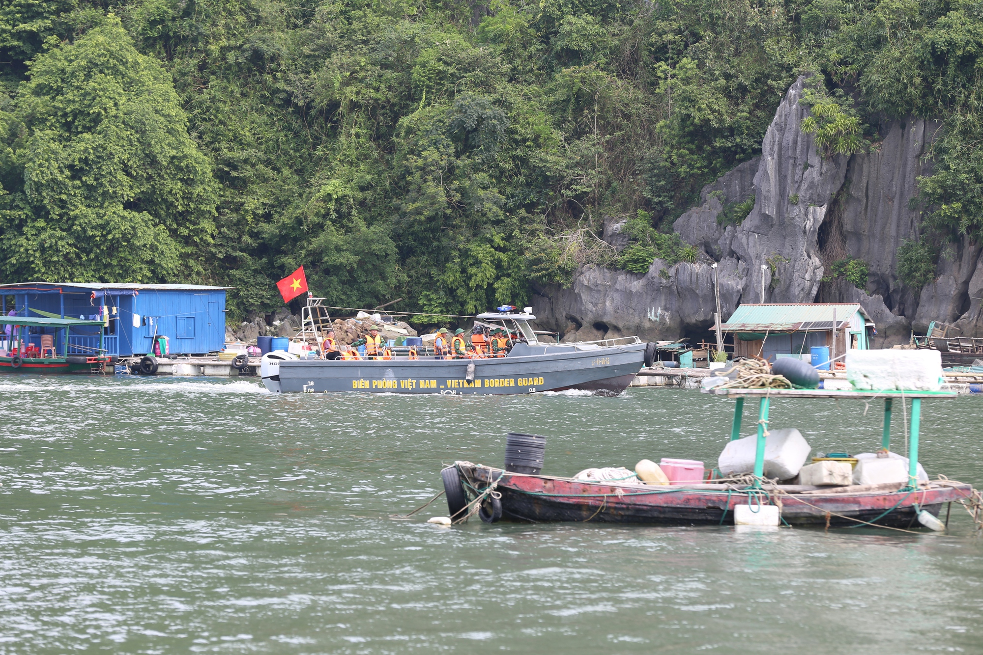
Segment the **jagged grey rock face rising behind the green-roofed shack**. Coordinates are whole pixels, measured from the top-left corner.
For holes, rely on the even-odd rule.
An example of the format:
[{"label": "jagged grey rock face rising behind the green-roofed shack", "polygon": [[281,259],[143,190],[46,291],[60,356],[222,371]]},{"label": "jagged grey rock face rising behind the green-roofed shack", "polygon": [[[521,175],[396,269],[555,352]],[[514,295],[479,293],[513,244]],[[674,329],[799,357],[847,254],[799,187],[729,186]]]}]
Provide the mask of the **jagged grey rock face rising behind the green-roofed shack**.
[{"label": "jagged grey rock face rising behind the green-roofed shack", "polygon": [[[799,104],[803,78],[785,94],[762,141],[762,154],[725,174],[700,194],[700,205],[674,229],[719,262],[723,318],[740,302],[859,302],[877,324],[875,346],[907,342],[931,320],[954,323],[961,336],[983,336],[983,248],[951,246],[938,279],[916,296],[897,277],[897,248],[918,234],[919,209],[909,206],[917,178],[931,174],[923,158],[937,124],[908,118],[883,121],[884,135],[869,152],[824,157],[802,132],[808,110]],[[754,196],[739,225],[721,212]],[[623,222],[605,221],[604,240],[620,249]],[[864,260],[865,290],[843,280],[822,283],[829,266]],[[704,261],[703,259],[707,259]],[[709,258],[666,266],[657,259],[645,275],[589,266],[569,289],[539,290],[540,326],[566,340],[637,334],[676,339],[713,325],[714,285]]]}]

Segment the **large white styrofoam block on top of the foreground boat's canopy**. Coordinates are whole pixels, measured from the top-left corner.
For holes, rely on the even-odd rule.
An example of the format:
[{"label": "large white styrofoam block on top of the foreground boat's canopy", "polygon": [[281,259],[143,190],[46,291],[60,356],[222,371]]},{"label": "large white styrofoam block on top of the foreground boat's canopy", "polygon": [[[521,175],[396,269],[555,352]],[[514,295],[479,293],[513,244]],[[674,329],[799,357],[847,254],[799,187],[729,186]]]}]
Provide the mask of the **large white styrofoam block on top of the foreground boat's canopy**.
[{"label": "large white styrofoam block on top of the foreground boat's canopy", "polygon": [[939,391],[942,354],[930,350],[846,351],[846,379],[857,390]]}]

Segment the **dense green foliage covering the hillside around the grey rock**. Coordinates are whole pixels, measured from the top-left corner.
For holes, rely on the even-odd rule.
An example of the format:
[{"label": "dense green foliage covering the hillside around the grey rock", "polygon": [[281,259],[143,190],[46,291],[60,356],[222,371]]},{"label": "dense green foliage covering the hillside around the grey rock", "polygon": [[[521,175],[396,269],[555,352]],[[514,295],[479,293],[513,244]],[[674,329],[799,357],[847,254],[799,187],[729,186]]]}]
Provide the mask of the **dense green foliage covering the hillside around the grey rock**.
[{"label": "dense green foliage covering the hillside around the grey rock", "polygon": [[[943,119],[922,201],[983,231],[981,5],[882,0],[3,0],[0,275],[473,312],[667,233],[815,72],[828,153]],[[845,93],[838,92],[838,88]],[[726,221],[738,223],[744,207]],[[629,220],[631,245],[599,239]]]}]

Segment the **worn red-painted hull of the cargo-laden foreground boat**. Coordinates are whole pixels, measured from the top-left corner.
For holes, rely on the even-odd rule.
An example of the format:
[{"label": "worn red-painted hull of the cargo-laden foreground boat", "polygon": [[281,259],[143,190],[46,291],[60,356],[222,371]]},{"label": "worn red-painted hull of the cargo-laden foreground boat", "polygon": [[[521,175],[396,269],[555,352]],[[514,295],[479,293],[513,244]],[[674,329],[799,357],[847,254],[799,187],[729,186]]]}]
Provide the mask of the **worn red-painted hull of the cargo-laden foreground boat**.
[{"label": "worn red-painted hull of the cargo-laden foreground boat", "polygon": [[[828,520],[830,525],[856,525],[855,520],[849,519],[876,519],[878,525],[909,527],[918,525],[919,510],[938,516],[945,503],[968,497],[971,489],[969,485],[947,483],[913,492],[863,491],[863,487],[857,487],[855,493],[841,493],[849,488],[833,492],[814,487],[810,493],[788,493],[781,490],[781,485],[769,485],[765,488],[768,495],[760,495],[759,501],[750,499],[746,487],[733,485],[728,489],[723,484],[612,484],[508,473],[470,463],[456,465],[473,488],[481,489],[498,480],[495,490],[501,494],[504,518],[533,522],[732,524],[736,505],[764,502],[780,504],[781,518],[792,525],[825,525]],[[881,516],[891,508],[894,509],[890,513]]]}]

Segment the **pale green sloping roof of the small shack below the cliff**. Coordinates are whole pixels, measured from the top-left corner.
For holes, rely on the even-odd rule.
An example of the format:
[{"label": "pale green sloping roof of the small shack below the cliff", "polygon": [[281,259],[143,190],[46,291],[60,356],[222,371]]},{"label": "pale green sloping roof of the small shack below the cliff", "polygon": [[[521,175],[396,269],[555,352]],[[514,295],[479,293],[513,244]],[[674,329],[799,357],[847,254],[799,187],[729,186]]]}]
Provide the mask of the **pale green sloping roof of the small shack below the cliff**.
[{"label": "pale green sloping roof of the small shack below the cliff", "polygon": [[742,304],[734,310],[721,328],[724,332],[807,332],[832,330],[834,316],[837,327],[849,325],[855,312],[863,316],[864,324],[873,321],[855,302],[798,302],[790,304]]}]

